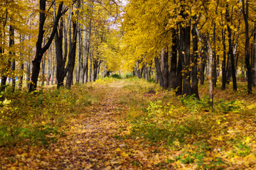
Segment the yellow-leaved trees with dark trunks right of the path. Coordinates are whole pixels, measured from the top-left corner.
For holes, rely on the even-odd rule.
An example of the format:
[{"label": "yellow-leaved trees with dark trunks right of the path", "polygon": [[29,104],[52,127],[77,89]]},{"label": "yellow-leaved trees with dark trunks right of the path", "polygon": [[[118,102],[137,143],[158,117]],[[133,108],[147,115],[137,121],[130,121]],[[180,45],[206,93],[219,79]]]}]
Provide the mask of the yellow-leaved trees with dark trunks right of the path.
[{"label": "yellow-leaved trees with dark trunks right of the path", "polygon": [[176,89],[176,94],[199,98],[199,79],[201,84],[205,77],[208,79],[211,93],[218,76],[222,77],[223,90],[232,78],[236,91],[239,71],[246,65],[248,93],[251,93],[255,46],[250,49],[249,45],[253,42],[250,34],[255,35],[255,21],[249,18],[255,18],[255,7],[249,0],[130,0],[122,23],[126,59],[134,61],[129,69],[137,70],[137,61],[139,67],[153,62],[164,89]]}]

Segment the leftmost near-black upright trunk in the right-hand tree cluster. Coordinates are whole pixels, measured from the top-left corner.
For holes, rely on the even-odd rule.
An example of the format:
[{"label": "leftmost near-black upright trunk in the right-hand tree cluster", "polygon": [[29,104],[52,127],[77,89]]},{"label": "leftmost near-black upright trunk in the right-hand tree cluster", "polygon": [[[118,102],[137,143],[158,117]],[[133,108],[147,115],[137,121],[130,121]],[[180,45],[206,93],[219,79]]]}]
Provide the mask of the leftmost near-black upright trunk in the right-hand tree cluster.
[{"label": "leftmost near-black upright trunk in the right-hand tree cluster", "polygon": [[171,45],[171,69],[169,74],[169,90],[176,89],[176,69],[177,69],[177,34],[176,30],[173,28],[172,32],[172,45]]}]

